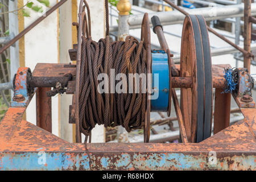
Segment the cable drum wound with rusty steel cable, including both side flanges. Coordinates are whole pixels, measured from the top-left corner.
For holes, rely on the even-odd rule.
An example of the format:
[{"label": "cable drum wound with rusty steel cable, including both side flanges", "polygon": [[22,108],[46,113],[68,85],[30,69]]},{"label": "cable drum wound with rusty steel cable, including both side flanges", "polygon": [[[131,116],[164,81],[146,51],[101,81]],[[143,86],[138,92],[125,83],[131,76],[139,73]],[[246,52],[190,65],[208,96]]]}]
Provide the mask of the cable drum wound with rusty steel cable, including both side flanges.
[{"label": "cable drum wound with rusty steel cable, including both side flanges", "polygon": [[[106,8],[106,38],[94,42],[90,35],[90,11],[86,1],[80,2],[77,46],[77,73],[75,94],[76,140],[81,133],[90,135],[96,124],[105,127],[123,126],[131,129],[144,128],[144,142],[150,137],[150,93],[99,93],[101,81],[98,75],[111,76],[123,73],[151,73],[150,26],[148,15],[142,21],[141,42],[127,36],[125,42],[110,42],[108,24],[108,1]],[[85,13],[87,10],[87,14]],[[104,78],[105,79],[105,78]],[[111,78],[110,78],[111,79]],[[133,80],[134,81],[134,80]],[[107,81],[110,83],[110,81]],[[115,85],[117,81],[115,81]],[[141,87],[146,82],[140,81]],[[115,86],[114,85],[114,86]],[[110,85],[111,86],[111,85]],[[151,88],[151,87],[150,87]],[[127,88],[125,88],[127,90]],[[134,89],[134,88],[133,88]]]}]

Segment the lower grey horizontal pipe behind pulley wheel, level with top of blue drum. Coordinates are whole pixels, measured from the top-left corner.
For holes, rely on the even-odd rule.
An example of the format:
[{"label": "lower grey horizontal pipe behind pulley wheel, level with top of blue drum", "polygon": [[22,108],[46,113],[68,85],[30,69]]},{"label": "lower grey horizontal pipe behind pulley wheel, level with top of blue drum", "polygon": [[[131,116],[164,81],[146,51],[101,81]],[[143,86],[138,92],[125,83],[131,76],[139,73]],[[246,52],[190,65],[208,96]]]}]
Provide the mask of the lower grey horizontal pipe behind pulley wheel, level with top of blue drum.
[{"label": "lower grey horizontal pipe behind pulley wheel, level with top of blue drum", "polygon": [[[256,43],[251,44],[251,50],[255,50],[255,49],[256,49]],[[221,47],[221,48],[212,49],[211,55],[212,56],[220,56],[220,55],[226,55],[229,53],[236,53],[236,52],[240,52],[240,51],[238,51],[234,47],[229,46],[229,47]],[[174,54],[173,59],[175,60],[175,63],[178,63],[180,60],[180,54]]]}]

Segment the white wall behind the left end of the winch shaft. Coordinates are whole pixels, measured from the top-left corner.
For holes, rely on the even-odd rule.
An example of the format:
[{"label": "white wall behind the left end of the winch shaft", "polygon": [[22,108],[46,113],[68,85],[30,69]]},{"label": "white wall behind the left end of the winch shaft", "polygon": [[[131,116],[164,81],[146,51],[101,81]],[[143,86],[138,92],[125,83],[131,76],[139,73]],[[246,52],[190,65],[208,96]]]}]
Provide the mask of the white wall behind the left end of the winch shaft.
[{"label": "white wall behind the left end of the winch shaft", "polygon": [[[34,3],[38,1],[33,0]],[[49,0],[50,7],[56,4],[56,0]],[[26,5],[27,0],[23,1]],[[42,14],[31,11],[30,17],[24,17],[26,28]],[[59,20],[57,11],[32,28],[24,36],[25,66],[34,70],[37,63],[58,63],[59,61]],[[59,98],[52,97],[52,133],[59,135]],[[35,97],[26,110],[27,121],[36,125]]]}]

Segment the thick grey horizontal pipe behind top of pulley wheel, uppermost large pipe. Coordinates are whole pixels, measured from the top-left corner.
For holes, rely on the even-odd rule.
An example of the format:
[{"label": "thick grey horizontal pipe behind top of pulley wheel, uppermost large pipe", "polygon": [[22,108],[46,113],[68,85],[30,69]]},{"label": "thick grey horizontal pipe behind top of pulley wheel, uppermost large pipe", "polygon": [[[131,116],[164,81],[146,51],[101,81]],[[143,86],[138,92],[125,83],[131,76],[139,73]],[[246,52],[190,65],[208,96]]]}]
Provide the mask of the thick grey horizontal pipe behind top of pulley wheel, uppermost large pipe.
[{"label": "thick grey horizontal pipe behind top of pulley wheel, uppermost large pipe", "polygon": [[[216,19],[226,19],[230,17],[242,17],[243,16],[243,4],[241,5],[228,5],[223,7],[203,7],[198,9],[187,10],[189,14],[200,14],[203,15],[205,20],[216,20]],[[164,11],[157,13],[150,13],[150,26],[151,16],[157,15],[162,23],[162,25],[168,24],[178,24],[183,23],[185,15],[179,11]],[[251,3],[251,15],[256,15],[256,3]],[[143,14],[130,15],[128,23],[130,29],[141,28]],[[118,31],[118,26],[110,27],[110,31]]]}]

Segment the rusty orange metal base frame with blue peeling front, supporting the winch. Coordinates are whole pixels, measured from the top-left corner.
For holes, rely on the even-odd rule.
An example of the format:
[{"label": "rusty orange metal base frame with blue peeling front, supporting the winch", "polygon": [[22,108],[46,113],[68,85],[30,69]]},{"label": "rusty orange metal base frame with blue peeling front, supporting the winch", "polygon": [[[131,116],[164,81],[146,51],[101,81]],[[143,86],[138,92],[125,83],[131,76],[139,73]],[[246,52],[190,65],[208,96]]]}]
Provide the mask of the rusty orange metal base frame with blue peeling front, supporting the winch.
[{"label": "rusty orange metal base frame with blue peeling front, supporting the winch", "polygon": [[[43,73],[44,76],[58,76],[63,72],[61,68],[67,70],[63,64],[38,64],[32,76]],[[69,73],[76,74],[76,68],[69,67],[68,70]],[[214,82],[221,80],[220,74],[220,69],[213,67]],[[20,82],[26,80],[25,77],[16,79]],[[22,88],[22,84],[15,86],[16,90]],[[0,121],[2,170],[256,170],[255,107],[240,107],[245,119],[223,128],[224,130],[200,143],[85,145],[66,142],[22,119],[31,99],[32,95],[26,101],[20,101],[22,105],[12,103],[12,107]],[[45,164],[38,162],[42,156],[46,158]]]}]

